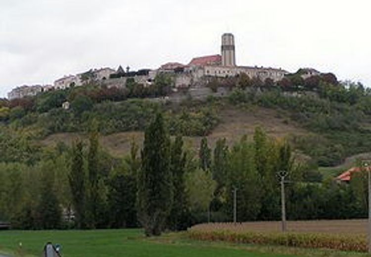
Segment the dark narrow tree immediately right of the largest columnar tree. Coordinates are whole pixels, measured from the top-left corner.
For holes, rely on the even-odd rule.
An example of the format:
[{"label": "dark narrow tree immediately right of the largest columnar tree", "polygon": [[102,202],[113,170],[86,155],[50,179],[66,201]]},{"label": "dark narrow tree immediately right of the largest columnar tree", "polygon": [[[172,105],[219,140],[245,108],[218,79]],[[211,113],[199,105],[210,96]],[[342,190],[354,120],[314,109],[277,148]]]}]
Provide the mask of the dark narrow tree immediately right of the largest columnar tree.
[{"label": "dark narrow tree immediately right of the largest columnar tree", "polygon": [[173,176],[174,202],[169,216],[169,227],[172,230],[184,230],[189,224],[187,199],[185,193],[185,162],[183,139],[178,135],[171,144],[170,170]]}]

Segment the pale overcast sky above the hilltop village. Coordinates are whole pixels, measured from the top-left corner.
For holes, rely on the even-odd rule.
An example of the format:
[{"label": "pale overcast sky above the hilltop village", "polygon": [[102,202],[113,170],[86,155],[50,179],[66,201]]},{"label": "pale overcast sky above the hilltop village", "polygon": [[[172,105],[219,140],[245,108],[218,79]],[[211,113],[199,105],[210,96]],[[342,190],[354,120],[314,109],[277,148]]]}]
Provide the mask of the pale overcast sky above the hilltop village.
[{"label": "pale overcast sky above the hilltop village", "polygon": [[369,0],[0,0],[0,97],[90,68],[157,68],[220,52],[371,86]]}]

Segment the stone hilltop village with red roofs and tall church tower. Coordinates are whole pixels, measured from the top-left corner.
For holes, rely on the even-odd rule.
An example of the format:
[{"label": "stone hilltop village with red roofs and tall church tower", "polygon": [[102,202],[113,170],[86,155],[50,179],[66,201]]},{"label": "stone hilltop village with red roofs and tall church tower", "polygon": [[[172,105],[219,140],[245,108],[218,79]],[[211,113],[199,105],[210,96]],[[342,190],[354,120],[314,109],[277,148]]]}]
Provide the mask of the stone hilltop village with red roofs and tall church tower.
[{"label": "stone hilltop village with red roofs and tall church tower", "polygon": [[[188,64],[168,62],[158,69],[140,69],[131,71],[130,67],[124,70],[120,65],[117,70],[112,68],[92,69],[77,75],[64,76],[54,81],[53,85],[19,86],[8,93],[8,99],[34,96],[40,92],[49,90],[66,89],[73,86],[83,86],[94,80],[100,85],[107,87],[125,87],[128,79],[134,79],[144,87],[151,86],[156,75],[160,73],[171,74],[173,77],[172,90],[200,89],[205,87],[211,80],[235,78],[241,74],[250,79],[260,81],[263,85],[277,85],[289,72],[281,68],[238,66],[236,65],[234,36],[231,33],[222,35],[221,54],[195,57]],[[317,76],[321,73],[315,69],[300,69],[302,79]]]}]

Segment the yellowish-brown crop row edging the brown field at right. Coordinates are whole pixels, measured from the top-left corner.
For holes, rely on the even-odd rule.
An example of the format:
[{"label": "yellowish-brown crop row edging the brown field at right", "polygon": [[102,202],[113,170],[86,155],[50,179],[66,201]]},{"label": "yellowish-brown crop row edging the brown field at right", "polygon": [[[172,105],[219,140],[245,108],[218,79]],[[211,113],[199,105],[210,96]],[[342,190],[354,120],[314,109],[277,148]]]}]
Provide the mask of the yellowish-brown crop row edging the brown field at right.
[{"label": "yellowish-brown crop row edging the brown field at right", "polygon": [[324,233],[236,233],[224,231],[189,230],[188,236],[194,240],[224,241],[230,243],[280,245],[302,248],[327,248],[339,251],[366,252],[367,238],[365,235],[340,235]]}]

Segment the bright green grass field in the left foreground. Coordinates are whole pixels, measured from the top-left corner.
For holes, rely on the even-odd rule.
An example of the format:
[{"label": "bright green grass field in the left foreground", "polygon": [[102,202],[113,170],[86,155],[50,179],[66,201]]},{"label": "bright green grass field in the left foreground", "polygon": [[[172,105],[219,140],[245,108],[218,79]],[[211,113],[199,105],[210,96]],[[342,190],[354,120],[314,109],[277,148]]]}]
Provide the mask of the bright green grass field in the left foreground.
[{"label": "bright green grass field in the left foreground", "polygon": [[[146,239],[138,229],[0,231],[0,252],[41,256],[48,241],[62,245],[63,257],[293,257],[251,252],[227,245]],[[19,250],[20,242],[22,250]]]}]

